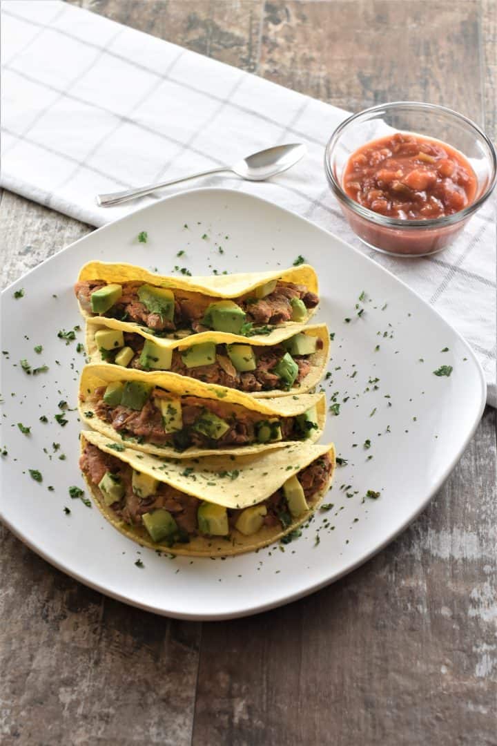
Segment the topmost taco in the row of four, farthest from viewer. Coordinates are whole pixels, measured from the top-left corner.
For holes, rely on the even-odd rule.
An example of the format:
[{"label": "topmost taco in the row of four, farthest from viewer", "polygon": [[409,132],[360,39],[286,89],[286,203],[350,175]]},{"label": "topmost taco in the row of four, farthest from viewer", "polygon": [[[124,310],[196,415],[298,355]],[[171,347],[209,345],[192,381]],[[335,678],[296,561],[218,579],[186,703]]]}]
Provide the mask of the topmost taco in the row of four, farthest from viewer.
[{"label": "topmost taco in the row of four, farthest from viewer", "polygon": [[270,333],[285,322],[307,322],[319,303],[316,273],[306,264],[283,272],[174,278],[94,261],[81,269],[75,294],[83,316],[135,322],[157,336],[209,329]]}]

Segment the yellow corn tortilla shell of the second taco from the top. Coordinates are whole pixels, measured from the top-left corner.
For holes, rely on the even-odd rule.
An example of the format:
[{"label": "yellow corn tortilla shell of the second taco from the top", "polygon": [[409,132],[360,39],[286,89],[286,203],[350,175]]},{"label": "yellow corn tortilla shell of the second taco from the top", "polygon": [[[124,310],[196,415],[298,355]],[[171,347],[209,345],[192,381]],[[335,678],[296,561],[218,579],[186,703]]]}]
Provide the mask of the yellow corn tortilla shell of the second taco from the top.
[{"label": "yellow corn tortilla shell of the second taco from the top", "polygon": [[[289,391],[275,389],[274,391],[255,391],[250,393],[250,396],[259,399],[267,399],[274,396],[305,394],[311,389],[314,389],[314,386],[317,386],[317,383],[319,383],[321,377],[323,377],[323,372],[326,368],[329,356],[329,332],[326,324],[306,326],[305,324],[290,323],[273,329],[270,334],[257,334],[249,338],[221,331],[204,331],[198,334],[190,334],[184,339],[165,339],[151,334],[147,327],[140,326],[139,324],[120,322],[117,319],[107,319],[105,316],[94,316],[86,319],[86,354],[92,363],[102,363],[101,354],[95,342],[95,332],[99,329],[105,328],[136,333],[144,339],[151,339],[151,341],[156,345],[159,345],[159,347],[168,349],[177,348],[180,351],[183,351],[192,345],[200,345],[202,342],[215,342],[216,345],[238,342],[238,344],[253,345],[253,347],[268,347],[270,345],[278,345],[279,342],[283,342],[285,339],[289,339],[297,333],[319,337],[321,342],[323,342],[323,348],[308,356],[308,360],[311,363],[311,369],[306,377],[300,382],[300,386],[290,389]],[[122,370],[121,366],[117,367]]]}]

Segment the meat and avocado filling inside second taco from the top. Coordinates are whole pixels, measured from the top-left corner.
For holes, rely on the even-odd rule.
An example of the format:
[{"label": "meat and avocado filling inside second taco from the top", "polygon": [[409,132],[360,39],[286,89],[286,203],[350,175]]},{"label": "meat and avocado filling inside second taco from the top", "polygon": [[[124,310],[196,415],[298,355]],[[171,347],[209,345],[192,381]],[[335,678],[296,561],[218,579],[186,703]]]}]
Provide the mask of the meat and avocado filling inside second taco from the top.
[{"label": "meat and avocado filling inside second taco from the top", "polygon": [[323,348],[319,336],[294,334],[277,345],[203,342],[189,348],[164,348],[138,333],[114,329],[95,332],[101,360],[138,370],[167,370],[245,392],[298,388],[311,371],[311,355]]}]

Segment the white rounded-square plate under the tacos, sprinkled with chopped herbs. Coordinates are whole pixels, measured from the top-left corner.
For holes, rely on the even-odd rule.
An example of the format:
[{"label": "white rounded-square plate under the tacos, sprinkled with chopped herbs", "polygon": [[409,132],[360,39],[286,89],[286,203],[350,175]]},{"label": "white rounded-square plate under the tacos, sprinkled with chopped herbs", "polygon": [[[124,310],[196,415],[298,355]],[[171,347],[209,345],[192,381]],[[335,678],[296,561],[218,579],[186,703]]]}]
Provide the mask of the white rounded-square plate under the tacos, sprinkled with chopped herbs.
[{"label": "white rounded-square plate under the tacos, sprinkled with chopped herbs", "polygon": [[[146,244],[137,240],[140,231],[148,231]],[[186,253],[177,258],[182,250]],[[82,324],[72,292],[80,266],[89,259],[124,260],[164,274],[174,266],[208,274],[287,267],[299,254],[320,278],[316,320],[335,333],[332,376],[323,385],[329,403],[339,392],[341,407],[338,416],[329,415],[323,437],[333,439],[349,462],[337,469],[326,498],[335,507],[319,513],[285,552],[273,545],[257,554],[212,561],[169,560],[140,549],[95,508],[68,494],[69,486],[83,486],[77,414],[67,414],[65,427],[54,414],[61,400],[76,406],[83,366],[76,343],[83,342],[83,332],[66,345],[57,331]],[[16,300],[13,293],[20,288],[25,296]],[[363,290],[364,303],[358,300]],[[4,291],[2,310],[1,346],[9,351],[8,359],[2,356],[1,382],[1,445],[8,451],[1,458],[4,521],[66,573],[159,614],[189,619],[247,615],[337,580],[420,513],[455,466],[484,408],[484,377],[472,351],[408,287],[310,222],[227,189],[183,192],[90,233]],[[42,354],[33,349],[39,344]],[[446,347],[449,351],[442,352]],[[49,370],[28,375],[19,366],[22,359],[33,367],[46,363]],[[450,377],[433,374],[441,365],[453,366]],[[376,384],[368,383],[375,378]],[[47,424],[39,421],[42,415]],[[23,435],[18,422],[30,426],[31,435]],[[369,449],[363,445],[367,439]],[[56,452],[53,442],[61,444]],[[61,453],[66,460],[58,459]],[[41,484],[30,477],[29,468],[42,472]],[[381,497],[364,498],[367,490]],[[326,520],[333,530],[323,527]],[[134,564],[138,558],[145,567]]]}]

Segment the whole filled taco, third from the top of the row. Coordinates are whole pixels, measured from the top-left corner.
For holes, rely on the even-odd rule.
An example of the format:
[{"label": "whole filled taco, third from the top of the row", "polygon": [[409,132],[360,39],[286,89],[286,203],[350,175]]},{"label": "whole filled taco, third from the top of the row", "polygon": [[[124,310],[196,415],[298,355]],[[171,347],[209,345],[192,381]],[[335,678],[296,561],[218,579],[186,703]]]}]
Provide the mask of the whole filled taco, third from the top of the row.
[{"label": "whole filled taco, third from the top of the row", "polygon": [[259,453],[319,439],[324,394],[255,399],[176,373],[90,363],[80,377],[80,417],[107,438],[149,454],[189,458]]}]

